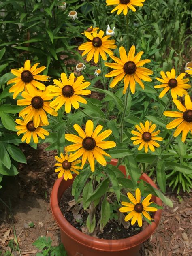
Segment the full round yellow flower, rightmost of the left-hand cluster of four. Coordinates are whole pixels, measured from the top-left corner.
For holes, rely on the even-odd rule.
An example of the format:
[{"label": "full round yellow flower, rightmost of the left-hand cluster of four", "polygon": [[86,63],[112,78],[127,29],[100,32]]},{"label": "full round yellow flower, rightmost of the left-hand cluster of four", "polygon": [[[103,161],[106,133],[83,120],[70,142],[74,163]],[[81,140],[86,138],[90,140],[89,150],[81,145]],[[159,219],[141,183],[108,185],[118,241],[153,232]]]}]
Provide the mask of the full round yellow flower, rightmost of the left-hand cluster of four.
[{"label": "full round yellow flower, rightmost of the left-hand cluster of four", "polygon": [[55,111],[58,111],[65,104],[66,113],[70,113],[71,105],[74,109],[79,108],[79,102],[86,104],[87,100],[79,95],[88,95],[91,93],[90,90],[85,90],[90,85],[90,82],[83,82],[84,77],[79,76],[75,79],[74,73],[71,73],[69,79],[65,73],[61,73],[61,81],[54,79],[54,85],[49,85],[47,87],[50,90],[48,96],[55,97],[50,103],[50,107],[54,107]]}]

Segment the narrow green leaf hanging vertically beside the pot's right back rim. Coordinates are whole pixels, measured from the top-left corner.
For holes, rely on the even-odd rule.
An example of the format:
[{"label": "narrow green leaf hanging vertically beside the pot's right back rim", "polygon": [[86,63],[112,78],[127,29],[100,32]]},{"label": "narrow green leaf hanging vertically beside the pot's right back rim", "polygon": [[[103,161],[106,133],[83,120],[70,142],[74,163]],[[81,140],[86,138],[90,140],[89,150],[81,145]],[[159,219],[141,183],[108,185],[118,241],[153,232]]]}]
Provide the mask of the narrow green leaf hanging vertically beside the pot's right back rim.
[{"label": "narrow green leaf hanging vertically beside the pot's right back rim", "polygon": [[165,161],[158,160],[157,162],[157,183],[163,193],[166,192],[166,173]]}]

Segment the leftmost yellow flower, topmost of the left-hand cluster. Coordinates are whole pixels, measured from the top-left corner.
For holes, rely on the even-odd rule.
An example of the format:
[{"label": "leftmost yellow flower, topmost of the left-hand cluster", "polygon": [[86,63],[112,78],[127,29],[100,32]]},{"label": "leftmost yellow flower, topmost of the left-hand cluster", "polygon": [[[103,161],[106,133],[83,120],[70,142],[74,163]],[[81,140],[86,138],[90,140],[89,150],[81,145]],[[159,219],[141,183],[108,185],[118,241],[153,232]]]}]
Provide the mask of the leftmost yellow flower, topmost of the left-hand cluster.
[{"label": "leftmost yellow flower, topmost of the left-hand cluster", "polygon": [[31,67],[30,60],[26,60],[24,64],[24,68],[11,69],[11,73],[17,76],[13,79],[10,79],[7,84],[15,83],[10,89],[9,92],[14,92],[13,98],[15,99],[17,95],[26,89],[26,85],[30,84],[40,90],[45,90],[45,85],[40,83],[39,81],[49,81],[50,77],[45,75],[38,75],[41,71],[43,71],[46,67],[42,66],[37,68],[39,63],[34,64]]}]

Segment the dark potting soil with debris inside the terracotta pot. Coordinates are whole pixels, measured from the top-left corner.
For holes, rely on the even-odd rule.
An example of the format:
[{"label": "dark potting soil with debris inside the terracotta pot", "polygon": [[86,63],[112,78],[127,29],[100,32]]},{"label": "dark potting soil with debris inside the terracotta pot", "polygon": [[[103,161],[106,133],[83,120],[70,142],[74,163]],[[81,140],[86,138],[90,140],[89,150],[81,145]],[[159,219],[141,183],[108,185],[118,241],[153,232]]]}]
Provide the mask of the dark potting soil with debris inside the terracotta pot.
[{"label": "dark potting soil with debris inside the terracotta pot", "polygon": [[[70,204],[70,203],[72,204]],[[86,220],[88,217],[87,211],[84,211],[83,206],[81,204],[77,205],[76,209],[70,206],[73,205],[73,196],[71,195],[71,186],[68,188],[61,200],[60,200],[60,209],[68,222],[77,228],[79,231],[91,235],[94,237],[98,237],[100,239],[109,239],[109,240],[117,240],[123,239],[127,237],[131,237],[136,235],[137,233],[142,231],[142,228],[139,228],[137,224],[134,226],[130,225],[130,222],[126,225],[126,228],[121,224],[119,225],[117,221],[109,221],[105,226],[103,233],[100,232],[99,228],[96,228],[96,232],[90,234],[86,228]],[[75,203],[75,202],[74,202]],[[96,218],[96,223],[98,219]]]}]

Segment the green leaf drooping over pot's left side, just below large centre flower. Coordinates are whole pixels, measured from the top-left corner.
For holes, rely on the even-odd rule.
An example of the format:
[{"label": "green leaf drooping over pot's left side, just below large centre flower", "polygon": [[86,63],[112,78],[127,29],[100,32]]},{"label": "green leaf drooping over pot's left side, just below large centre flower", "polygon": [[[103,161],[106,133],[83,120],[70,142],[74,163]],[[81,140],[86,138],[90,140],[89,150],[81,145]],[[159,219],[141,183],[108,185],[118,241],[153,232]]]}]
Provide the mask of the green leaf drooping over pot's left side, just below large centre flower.
[{"label": "green leaf drooping over pot's left side, just below large centre flower", "polygon": [[76,202],[89,176],[90,176],[90,172],[86,169],[81,171],[80,174],[75,177],[75,180],[74,180],[75,183],[73,181],[73,185],[72,185],[72,195],[74,196],[74,199]]}]

